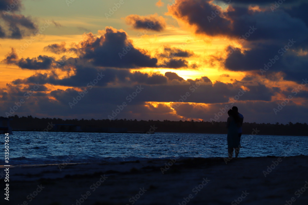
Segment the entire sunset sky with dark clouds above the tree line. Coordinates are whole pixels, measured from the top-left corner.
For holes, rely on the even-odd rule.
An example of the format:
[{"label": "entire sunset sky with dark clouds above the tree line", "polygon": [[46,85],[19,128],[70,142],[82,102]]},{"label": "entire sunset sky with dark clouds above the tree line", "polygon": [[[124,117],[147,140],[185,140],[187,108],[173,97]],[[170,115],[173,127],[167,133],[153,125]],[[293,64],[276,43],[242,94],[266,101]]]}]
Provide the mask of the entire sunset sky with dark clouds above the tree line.
[{"label": "entire sunset sky with dark clouds above the tree line", "polygon": [[308,122],[307,0],[0,9],[0,116],[225,121],[237,106],[244,122]]}]

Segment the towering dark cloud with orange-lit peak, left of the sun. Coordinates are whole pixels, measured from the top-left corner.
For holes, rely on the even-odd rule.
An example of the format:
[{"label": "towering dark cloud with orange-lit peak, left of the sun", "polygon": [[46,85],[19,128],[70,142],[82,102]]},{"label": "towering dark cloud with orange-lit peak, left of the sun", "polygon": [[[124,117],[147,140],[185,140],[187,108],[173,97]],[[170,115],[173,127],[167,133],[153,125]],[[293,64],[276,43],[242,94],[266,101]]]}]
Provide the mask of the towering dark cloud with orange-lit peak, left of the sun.
[{"label": "towering dark cloud with orange-lit peak, left of the sun", "polygon": [[[37,58],[22,58],[18,62],[12,62],[16,53],[10,53],[6,56],[5,62],[15,63],[24,69],[50,69],[59,67],[63,70],[76,67],[76,73],[82,73],[80,77],[87,74],[83,73],[84,67],[113,67],[113,68],[140,68],[140,67],[157,67],[157,59],[152,58],[147,51],[136,49],[132,45],[132,41],[127,38],[124,31],[106,28],[105,34],[96,37],[92,33],[86,34],[84,41],[79,45],[71,48],[65,47],[65,42],[61,44],[51,44],[44,48],[45,51],[61,54],[66,52],[74,52],[78,57],[63,56],[55,61],[53,57],[40,55]],[[53,64],[55,63],[55,64]],[[80,68],[80,71],[78,69]],[[89,69],[89,70],[91,70]],[[93,70],[93,69],[92,69]],[[96,69],[94,69],[96,72]],[[91,72],[90,72],[91,73]],[[57,76],[53,77],[55,80]],[[73,79],[74,77],[72,77]],[[79,78],[76,76],[75,78]],[[77,79],[76,79],[77,80]],[[65,80],[63,80],[65,81]],[[59,83],[59,81],[57,81]]]}]

